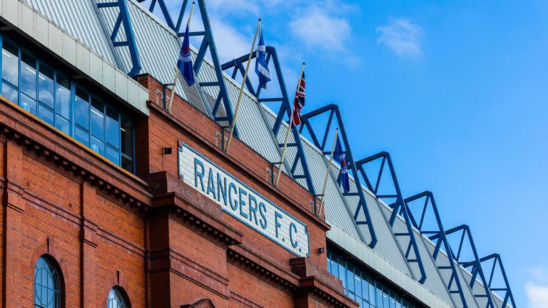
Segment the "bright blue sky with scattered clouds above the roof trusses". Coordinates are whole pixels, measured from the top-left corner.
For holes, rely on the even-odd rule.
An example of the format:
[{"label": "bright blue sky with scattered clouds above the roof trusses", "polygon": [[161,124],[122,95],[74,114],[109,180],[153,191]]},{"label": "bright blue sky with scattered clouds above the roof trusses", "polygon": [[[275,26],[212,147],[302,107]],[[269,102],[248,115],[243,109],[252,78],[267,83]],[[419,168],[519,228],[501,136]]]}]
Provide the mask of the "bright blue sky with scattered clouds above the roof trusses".
[{"label": "bright blue sky with scattered clouds above the roof trusses", "polygon": [[207,2],[222,60],[262,17],[290,92],[307,63],[305,108],[337,103],[355,158],[390,152],[404,195],[502,255],[518,307],[548,307],[547,1]]}]

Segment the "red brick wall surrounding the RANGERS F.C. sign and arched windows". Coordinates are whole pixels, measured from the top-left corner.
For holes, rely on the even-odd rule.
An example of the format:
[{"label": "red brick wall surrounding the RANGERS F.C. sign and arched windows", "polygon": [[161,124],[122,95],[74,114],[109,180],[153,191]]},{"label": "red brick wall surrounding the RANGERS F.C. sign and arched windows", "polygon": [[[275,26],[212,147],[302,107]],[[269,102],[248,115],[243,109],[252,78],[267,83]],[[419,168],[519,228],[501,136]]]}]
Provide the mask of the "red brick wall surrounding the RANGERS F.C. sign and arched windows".
[{"label": "red brick wall surrounding the RANGERS F.C. sign and arched windows", "polygon": [[[131,307],[357,307],[326,269],[323,214],[313,195],[239,140],[215,142],[218,124],[181,98],[136,121],[137,176],[0,97],[0,302],[30,307],[34,267],[50,255],[62,272],[64,307],[106,307],[118,286]],[[178,141],[190,145],[308,226],[298,258],[228,215],[178,178]],[[173,149],[163,155],[162,148]]]}]

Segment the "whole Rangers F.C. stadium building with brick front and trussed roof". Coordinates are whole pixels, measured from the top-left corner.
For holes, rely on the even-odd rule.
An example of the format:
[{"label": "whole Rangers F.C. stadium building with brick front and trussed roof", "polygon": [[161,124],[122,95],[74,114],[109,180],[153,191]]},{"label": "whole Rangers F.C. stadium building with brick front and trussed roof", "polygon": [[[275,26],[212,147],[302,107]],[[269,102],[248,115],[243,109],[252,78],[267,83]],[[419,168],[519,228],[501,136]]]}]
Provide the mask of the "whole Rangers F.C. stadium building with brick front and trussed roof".
[{"label": "whole Rangers F.C. stadium building with brick front and trussed roof", "polygon": [[273,47],[280,98],[246,84],[225,152],[247,55],[219,63],[203,0],[198,82],[166,110],[182,19],[140,2],[0,1],[4,307],[515,305],[499,255],[445,229],[432,193],[402,195],[388,153],[352,157],[338,106],[304,111],[279,163],[293,98]]}]

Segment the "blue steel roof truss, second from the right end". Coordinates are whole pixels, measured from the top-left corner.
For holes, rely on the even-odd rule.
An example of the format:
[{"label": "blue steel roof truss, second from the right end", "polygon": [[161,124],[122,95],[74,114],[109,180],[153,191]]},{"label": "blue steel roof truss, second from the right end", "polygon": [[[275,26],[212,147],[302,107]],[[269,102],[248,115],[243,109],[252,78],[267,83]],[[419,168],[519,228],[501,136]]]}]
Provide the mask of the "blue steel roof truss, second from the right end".
[{"label": "blue steel roof truss, second from the right end", "polygon": [[[455,250],[453,250],[452,247],[451,247],[451,254],[455,258],[455,260],[457,260],[459,265],[462,265],[462,267],[465,267],[465,268],[471,267],[470,272],[472,273],[472,279],[470,279],[470,289],[472,290],[472,294],[474,295],[475,298],[486,299],[487,301],[485,305],[486,308],[495,308],[496,306],[494,305],[493,298],[489,290],[489,284],[487,284],[487,280],[485,279],[485,275],[483,273],[482,262],[480,260],[480,257],[478,257],[477,255],[476,245],[474,244],[474,239],[472,238],[472,232],[470,232],[470,227],[468,227],[467,225],[460,225],[458,227],[454,227],[450,230],[445,231],[445,235],[450,235],[455,232],[457,234],[458,232],[462,232],[462,236],[460,237],[457,254],[455,254]],[[436,240],[438,237],[439,236],[437,235],[432,235],[430,239]],[[462,248],[465,245],[465,238],[467,238],[468,240],[468,245],[470,245],[470,249],[472,250],[473,258],[472,260],[461,261],[460,260],[461,252],[462,252]],[[474,292],[474,285],[476,284],[478,276],[480,276],[481,282],[483,284],[484,293],[482,294],[477,294]]]}]

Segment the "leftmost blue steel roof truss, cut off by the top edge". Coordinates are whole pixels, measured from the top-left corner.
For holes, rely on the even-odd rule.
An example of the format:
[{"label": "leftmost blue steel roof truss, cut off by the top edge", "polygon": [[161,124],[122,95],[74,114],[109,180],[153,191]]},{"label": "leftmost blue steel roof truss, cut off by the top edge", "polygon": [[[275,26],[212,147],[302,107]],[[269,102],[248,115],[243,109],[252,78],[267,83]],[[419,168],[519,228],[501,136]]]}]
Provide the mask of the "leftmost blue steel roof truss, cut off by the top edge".
[{"label": "leftmost blue steel roof truss, cut off by the top edge", "polygon": [[[114,47],[128,47],[129,55],[131,56],[131,70],[128,72],[128,75],[131,77],[136,76],[141,71],[141,58],[139,58],[137,43],[135,41],[135,36],[133,35],[133,26],[131,26],[131,19],[129,18],[128,4],[126,3],[126,0],[99,2],[97,3],[97,7],[99,9],[118,7],[120,10],[118,17],[116,18],[116,23],[114,23],[114,27],[112,29],[111,41]],[[120,26],[123,26],[123,31],[126,33],[126,41],[117,40]]]}]

